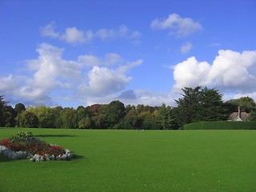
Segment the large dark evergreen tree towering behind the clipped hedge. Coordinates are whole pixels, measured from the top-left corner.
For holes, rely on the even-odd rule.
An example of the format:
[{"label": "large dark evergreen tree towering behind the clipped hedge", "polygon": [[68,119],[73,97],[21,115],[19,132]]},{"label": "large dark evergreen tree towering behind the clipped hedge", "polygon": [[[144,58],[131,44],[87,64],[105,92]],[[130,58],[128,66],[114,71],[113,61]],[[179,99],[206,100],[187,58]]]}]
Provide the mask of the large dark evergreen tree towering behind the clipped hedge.
[{"label": "large dark evergreen tree towering behind the clipped hedge", "polygon": [[218,90],[197,86],[185,87],[182,91],[182,98],[175,100],[178,104],[176,118],[180,126],[190,122],[226,120],[228,117]]}]

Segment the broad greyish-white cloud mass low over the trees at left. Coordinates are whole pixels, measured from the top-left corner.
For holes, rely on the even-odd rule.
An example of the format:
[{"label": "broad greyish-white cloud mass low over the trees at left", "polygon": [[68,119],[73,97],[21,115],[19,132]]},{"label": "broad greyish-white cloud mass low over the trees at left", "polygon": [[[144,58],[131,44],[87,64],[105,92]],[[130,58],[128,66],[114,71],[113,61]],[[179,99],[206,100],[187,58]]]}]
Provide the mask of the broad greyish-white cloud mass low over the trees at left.
[{"label": "broad greyish-white cloud mass low over the trees at left", "polygon": [[27,60],[22,70],[26,75],[0,78],[1,93],[8,101],[50,106],[72,100],[90,103],[94,100],[91,98],[117,98],[117,92],[125,90],[132,79],[126,73],[142,64],[142,60],[126,62],[115,53],[66,60],[63,51],[46,43],[38,45],[38,58]]}]

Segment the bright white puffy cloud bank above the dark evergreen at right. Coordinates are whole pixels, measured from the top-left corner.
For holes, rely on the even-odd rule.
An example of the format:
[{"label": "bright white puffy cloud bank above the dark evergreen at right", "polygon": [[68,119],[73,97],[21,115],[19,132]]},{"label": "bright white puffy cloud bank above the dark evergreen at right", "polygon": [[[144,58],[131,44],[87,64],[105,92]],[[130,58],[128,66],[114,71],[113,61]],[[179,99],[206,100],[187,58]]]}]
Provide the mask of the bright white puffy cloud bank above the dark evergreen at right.
[{"label": "bright white puffy cloud bank above the dark evergreen at right", "polygon": [[219,50],[212,64],[191,57],[173,69],[177,91],[184,86],[214,86],[248,95],[256,89],[256,51]]}]

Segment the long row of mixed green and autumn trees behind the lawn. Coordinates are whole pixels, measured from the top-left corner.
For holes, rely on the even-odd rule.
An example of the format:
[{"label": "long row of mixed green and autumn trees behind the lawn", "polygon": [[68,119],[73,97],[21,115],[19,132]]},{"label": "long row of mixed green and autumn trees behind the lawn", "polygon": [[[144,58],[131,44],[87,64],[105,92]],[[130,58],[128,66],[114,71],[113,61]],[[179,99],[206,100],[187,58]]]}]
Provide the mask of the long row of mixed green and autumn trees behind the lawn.
[{"label": "long row of mixed green and autumn trees behind the lawn", "polygon": [[256,120],[254,99],[242,97],[222,101],[219,90],[197,86],[182,89],[177,106],[125,106],[120,101],[109,104],[73,107],[34,106],[18,103],[13,108],[0,96],[0,126],[67,129],[177,130],[190,122],[226,121],[237,111],[250,112]]}]

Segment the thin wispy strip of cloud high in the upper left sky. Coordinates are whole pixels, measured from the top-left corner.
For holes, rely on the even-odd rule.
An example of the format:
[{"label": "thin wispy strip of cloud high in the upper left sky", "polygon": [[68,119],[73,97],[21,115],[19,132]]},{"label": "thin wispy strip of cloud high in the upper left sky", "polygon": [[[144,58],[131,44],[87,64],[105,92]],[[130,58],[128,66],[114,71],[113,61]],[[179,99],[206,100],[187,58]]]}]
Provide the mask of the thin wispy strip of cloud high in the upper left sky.
[{"label": "thin wispy strip of cloud high in the upper left sky", "polygon": [[75,26],[66,28],[65,32],[56,31],[55,22],[50,22],[46,26],[41,27],[41,34],[44,37],[58,38],[70,44],[81,44],[91,42],[94,38],[102,40],[114,38],[138,39],[141,33],[137,30],[130,30],[127,26],[122,25],[119,29],[99,29],[93,30],[78,30]]}]

